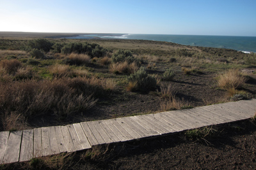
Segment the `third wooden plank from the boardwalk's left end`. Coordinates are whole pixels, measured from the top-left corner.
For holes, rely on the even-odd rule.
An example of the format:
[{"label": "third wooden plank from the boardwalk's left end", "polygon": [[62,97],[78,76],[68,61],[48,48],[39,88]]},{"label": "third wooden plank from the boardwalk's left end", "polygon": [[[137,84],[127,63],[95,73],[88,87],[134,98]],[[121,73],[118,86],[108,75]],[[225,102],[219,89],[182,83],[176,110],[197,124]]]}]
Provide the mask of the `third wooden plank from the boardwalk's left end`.
[{"label": "third wooden plank from the boardwalk's left end", "polygon": [[22,141],[20,146],[20,159],[19,161],[28,161],[33,158],[34,149],[34,130],[29,129],[23,131]]}]

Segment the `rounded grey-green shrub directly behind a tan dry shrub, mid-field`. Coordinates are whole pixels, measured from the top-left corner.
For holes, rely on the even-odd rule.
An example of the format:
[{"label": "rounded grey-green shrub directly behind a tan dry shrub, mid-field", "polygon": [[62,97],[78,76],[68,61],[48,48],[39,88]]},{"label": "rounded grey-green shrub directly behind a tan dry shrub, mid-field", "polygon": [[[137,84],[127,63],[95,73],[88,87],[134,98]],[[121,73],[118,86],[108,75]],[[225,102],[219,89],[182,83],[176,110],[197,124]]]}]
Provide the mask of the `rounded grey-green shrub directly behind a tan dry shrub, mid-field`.
[{"label": "rounded grey-green shrub directly behind a tan dry shrub, mid-field", "polygon": [[131,64],[132,62],[138,63],[138,59],[136,59],[132,55],[132,52],[130,50],[118,50],[112,55],[111,59],[114,63],[125,61],[127,61],[129,64]]}]

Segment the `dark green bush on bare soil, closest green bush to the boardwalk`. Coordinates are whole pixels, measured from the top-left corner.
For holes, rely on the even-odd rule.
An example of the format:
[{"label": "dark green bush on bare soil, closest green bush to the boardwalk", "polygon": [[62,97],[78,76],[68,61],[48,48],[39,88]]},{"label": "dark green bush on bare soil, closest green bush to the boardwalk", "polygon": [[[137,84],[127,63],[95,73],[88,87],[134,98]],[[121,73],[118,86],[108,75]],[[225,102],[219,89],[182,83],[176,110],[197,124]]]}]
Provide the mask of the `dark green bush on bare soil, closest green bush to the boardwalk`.
[{"label": "dark green bush on bare soil, closest green bush to the boardwalk", "polygon": [[129,81],[129,86],[127,87],[129,91],[148,92],[155,89],[157,84],[156,78],[148,75],[144,67],[140,67],[136,73],[127,77],[127,80]]}]

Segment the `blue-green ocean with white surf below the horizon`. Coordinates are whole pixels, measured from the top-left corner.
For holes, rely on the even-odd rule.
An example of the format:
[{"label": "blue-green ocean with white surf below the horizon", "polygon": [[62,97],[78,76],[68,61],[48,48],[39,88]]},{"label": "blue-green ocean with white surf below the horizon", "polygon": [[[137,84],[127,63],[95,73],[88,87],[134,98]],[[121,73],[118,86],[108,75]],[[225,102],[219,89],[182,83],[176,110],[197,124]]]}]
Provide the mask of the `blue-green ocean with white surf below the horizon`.
[{"label": "blue-green ocean with white surf below the horizon", "polygon": [[181,45],[228,48],[241,52],[256,53],[256,37],[252,36],[189,36],[164,34],[81,34],[72,39],[115,38],[167,41]]}]

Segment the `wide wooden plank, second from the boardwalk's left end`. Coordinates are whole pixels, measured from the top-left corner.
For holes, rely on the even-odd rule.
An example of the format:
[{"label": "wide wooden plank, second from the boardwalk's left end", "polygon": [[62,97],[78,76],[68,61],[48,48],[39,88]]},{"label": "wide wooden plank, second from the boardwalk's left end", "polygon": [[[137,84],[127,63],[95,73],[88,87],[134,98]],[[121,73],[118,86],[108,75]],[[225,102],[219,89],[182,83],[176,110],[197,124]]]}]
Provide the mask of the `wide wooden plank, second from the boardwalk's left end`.
[{"label": "wide wooden plank, second from the boardwalk's left end", "polygon": [[4,164],[19,161],[21,138],[22,131],[10,132],[10,136],[8,138],[8,143],[4,153]]}]

